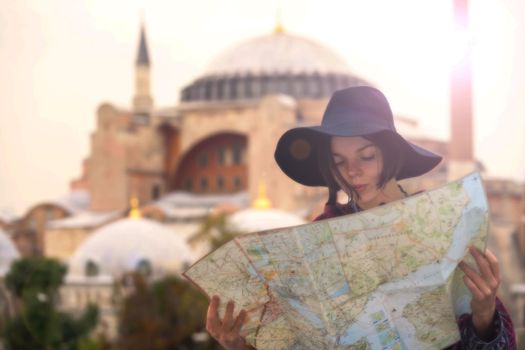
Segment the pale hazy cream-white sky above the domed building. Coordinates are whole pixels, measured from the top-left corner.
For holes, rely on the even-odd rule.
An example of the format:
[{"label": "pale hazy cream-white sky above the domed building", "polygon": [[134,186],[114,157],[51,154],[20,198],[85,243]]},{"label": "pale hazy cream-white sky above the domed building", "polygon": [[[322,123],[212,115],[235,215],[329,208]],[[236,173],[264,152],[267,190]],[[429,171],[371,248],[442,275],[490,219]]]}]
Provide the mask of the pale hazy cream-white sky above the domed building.
[{"label": "pale hazy cream-white sky above the domed building", "polygon": [[[90,153],[97,107],[128,107],[141,19],[156,107],[225,49],[286,32],[339,53],[395,114],[449,136],[450,69],[473,52],[474,151],[491,177],[525,180],[525,2],[470,1],[452,31],[452,0],[2,0],[0,210],[21,215],[62,197]],[[464,39],[464,40],[461,40]]]}]

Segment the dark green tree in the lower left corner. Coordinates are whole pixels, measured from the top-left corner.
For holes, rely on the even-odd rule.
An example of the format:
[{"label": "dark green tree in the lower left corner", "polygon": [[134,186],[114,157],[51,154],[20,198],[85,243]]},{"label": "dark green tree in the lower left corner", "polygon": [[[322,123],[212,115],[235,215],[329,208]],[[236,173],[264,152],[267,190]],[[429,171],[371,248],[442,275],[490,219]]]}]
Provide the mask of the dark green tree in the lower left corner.
[{"label": "dark green tree in the lower left corner", "polygon": [[59,261],[43,257],[13,264],[5,282],[16,299],[16,316],[1,330],[7,349],[79,349],[97,324],[98,309],[90,305],[80,317],[58,310],[66,271]]}]

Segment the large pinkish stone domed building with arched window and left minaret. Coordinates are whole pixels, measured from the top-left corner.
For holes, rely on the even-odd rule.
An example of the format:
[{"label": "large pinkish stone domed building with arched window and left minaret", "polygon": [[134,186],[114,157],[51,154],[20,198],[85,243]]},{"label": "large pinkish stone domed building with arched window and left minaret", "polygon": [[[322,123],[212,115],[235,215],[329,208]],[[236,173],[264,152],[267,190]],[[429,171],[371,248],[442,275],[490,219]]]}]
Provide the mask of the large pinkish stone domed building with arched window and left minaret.
[{"label": "large pinkish stone domed building with arched window and left minaret", "polygon": [[142,28],[133,106],[100,106],[92,153],[72,182],[89,191],[91,210],[125,210],[133,194],[148,204],[181,191],[245,192],[251,202],[259,181],[275,207],[294,210],[319,190],[279,171],[277,139],[290,127],[319,123],[335,90],[367,84],[330,48],[280,28],[211,60],[171,108],[154,106],[150,64]]}]

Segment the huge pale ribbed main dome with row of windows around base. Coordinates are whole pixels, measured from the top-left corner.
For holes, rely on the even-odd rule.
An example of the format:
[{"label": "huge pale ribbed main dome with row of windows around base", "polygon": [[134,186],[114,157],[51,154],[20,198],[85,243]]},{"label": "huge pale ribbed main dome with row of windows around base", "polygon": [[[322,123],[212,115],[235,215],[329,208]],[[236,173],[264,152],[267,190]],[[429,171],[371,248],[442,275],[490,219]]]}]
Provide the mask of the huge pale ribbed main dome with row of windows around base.
[{"label": "huge pale ribbed main dome with row of windows around base", "polygon": [[219,55],[203,76],[183,89],[184,102],[234,101],[283,93],[322,98],[364,85],[344,59],[313,40],[274,33],[243,42]]}]

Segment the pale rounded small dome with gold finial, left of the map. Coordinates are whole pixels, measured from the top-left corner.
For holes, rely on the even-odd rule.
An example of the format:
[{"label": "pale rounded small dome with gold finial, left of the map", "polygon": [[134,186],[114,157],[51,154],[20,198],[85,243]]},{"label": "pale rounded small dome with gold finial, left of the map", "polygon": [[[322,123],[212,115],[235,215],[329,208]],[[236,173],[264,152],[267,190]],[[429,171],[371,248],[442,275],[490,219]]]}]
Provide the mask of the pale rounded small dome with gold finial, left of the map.
[{"label": "pale rounded small dome with gold finial, left of the map", "polygon": [[122,219],[104,226],[78,247],[70,276],[121,276],[127,271],[178,273],[192,261],[184,239],[147,219]]}]

